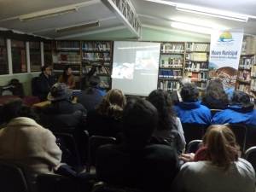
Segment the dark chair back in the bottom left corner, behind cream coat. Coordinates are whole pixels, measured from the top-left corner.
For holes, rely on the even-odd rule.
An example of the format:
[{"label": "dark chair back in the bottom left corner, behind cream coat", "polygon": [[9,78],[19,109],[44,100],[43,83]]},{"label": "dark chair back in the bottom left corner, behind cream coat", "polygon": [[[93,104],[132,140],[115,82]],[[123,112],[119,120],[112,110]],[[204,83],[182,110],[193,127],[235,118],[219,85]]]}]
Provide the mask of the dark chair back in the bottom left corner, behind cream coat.
[{"label": "dark chair back in the bottom left corner, behind cream coat", "polygon": [[0,162],[0,191],[28,192],[23,173],[14,164]]}]

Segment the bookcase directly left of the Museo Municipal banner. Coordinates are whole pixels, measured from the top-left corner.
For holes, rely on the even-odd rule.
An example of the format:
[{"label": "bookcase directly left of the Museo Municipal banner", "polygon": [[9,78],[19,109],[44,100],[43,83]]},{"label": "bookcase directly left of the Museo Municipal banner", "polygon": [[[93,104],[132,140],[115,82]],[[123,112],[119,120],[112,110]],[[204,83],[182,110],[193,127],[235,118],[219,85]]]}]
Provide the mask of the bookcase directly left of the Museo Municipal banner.
[{"label": "bookcase directly left of the Museo Municipal banner", "polygon": [[200,91],[207,87],[209,50],[210,43],[188,42],[185,44],[184,73]]}]

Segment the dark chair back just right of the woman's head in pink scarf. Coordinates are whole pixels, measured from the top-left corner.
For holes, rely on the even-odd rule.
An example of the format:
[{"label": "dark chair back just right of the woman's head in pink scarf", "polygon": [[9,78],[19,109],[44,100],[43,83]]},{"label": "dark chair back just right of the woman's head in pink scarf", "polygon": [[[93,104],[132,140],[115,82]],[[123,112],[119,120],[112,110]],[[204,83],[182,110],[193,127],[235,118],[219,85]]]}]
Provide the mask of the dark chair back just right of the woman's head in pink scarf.
[{"label": "dark chair back just right of the woman's head in pink scarf", "polygon": [[241,157],[243,157],[247,142],[247,126],[237,124],[226,124],[230,127],[236,136],[236,143],[239,145],[241,150]]}]

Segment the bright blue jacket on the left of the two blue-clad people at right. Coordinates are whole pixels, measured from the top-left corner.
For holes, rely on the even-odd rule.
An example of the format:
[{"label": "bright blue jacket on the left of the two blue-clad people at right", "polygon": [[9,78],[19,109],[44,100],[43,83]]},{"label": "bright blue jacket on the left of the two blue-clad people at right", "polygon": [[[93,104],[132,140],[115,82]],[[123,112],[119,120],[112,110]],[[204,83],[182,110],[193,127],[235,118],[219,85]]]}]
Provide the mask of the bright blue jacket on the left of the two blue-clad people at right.
[{"label": "bright blue jacket on the left of the two blue-clad people at right", "polygon": [[177,102],[174,108],[182,124],[211,125],[211,111],[201,101]]}]

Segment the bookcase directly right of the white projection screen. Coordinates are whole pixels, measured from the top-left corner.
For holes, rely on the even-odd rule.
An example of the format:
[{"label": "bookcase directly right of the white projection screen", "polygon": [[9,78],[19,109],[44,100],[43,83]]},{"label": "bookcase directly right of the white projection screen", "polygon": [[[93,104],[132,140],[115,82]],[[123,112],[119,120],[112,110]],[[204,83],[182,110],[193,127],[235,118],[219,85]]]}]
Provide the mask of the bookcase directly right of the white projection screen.
[{"label": "bookcase directly right of the white projection screen", "polygon": [[183,77],[184,42],[162,42],[160,45],[158,88],[166,91],[179,89]]}]

